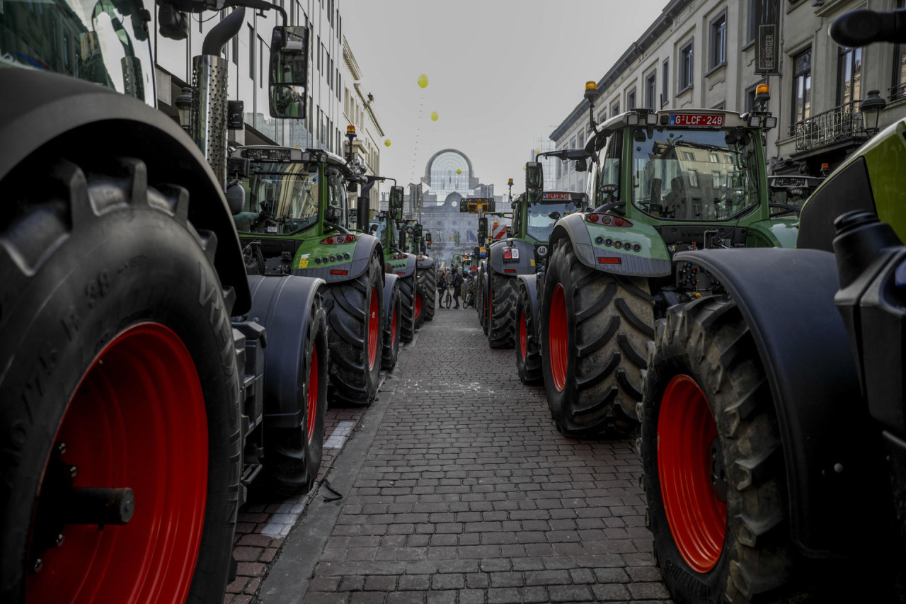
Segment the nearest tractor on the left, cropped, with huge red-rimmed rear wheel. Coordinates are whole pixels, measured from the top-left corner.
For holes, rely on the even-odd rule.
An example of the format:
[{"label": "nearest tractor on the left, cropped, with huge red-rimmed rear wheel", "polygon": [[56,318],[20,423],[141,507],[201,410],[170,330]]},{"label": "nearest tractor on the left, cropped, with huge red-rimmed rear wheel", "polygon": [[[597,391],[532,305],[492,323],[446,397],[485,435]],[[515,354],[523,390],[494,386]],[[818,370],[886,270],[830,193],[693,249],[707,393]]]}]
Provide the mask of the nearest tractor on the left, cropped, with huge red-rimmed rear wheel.
[{"label": "nearest tractor on the left, cropped, with huge red-rimmed rear wheel", "polygon": [[[231,217],[222,54],[245,8],[192,60],[190,134],[155,108],[159,36],[213,7],[0,14],[0,601],[221,601],[246,487],[318,472],[323,280],[246,276]],[[273,32],[272,115],[304,103],[307,40]]]}]

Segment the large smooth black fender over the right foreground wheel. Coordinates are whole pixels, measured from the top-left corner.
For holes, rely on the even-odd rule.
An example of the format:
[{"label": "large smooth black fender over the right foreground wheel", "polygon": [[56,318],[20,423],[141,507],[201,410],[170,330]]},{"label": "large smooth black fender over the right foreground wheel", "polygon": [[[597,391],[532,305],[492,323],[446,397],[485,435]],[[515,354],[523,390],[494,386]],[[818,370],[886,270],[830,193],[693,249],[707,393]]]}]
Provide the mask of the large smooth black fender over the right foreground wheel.
[{"label": "large smooth black fender over the right foreground wheel", "polygon": [[870,547],[865,542],[882,530],[889,497],[882,495],[876,431],[834,306],[834,254],[710,249],[675,259],[718,278],[755,339],[780,430],[796,546],[814,558],[852,553],[860,543]]}]

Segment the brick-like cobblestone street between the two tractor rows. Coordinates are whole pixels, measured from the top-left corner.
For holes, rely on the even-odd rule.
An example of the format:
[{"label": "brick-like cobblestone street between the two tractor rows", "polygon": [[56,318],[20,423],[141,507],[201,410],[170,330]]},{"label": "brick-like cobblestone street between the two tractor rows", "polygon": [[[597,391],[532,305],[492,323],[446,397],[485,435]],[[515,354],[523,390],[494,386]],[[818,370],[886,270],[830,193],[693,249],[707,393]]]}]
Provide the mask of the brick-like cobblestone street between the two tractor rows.
[{"label": "brick-like cobblestone street between the two tractor rows", "polygon": [[[315,492],[257,601],[670,601],[631,443],[558,434],[471,309],[439,310],[407,353],[329,474],[344,497]],[[239,542],[283,542],[259,539]]]}]

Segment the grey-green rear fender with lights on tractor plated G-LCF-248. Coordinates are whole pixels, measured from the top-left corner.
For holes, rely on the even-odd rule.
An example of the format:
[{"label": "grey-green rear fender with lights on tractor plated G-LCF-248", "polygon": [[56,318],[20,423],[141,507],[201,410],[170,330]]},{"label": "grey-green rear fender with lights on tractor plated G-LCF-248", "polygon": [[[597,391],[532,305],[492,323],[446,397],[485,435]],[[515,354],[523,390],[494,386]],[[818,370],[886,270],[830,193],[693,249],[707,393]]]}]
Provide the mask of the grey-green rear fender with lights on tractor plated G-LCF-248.
[{"label": "grey-green rear fender with lights on tractor plated G-LCF-248", "polygon": [[[604,225],[591,227],[585,222],[585,216],[587,214],[570,214],[557,220],[548,248],[553,250],[557,241],[569,238],[576,258],[588,268],[625,277],[668,277],[673,273],[664,241],[650,225],[636,224],[631,229]],[[602,239],[638,239],[639,242],[644,242],[642,251],[622,252],[617,248],[595,247],[592,243],[592,229],[594,236]],[[600,258],[619,258],[620,262],[604,264],[600,262]]]}]

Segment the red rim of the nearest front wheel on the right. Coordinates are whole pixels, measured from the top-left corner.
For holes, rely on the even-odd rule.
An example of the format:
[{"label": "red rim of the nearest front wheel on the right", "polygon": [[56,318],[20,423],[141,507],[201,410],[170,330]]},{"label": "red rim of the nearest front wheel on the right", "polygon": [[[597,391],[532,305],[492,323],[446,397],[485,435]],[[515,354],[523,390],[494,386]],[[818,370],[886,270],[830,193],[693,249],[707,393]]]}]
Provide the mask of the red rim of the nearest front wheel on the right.
[{"label": "red rim of the nearest front wheel on the right", "polygon": [[679,554],[708,572],[723,551],[727,503],[711,485],[711,443],[718,437],[701,388],[677,375],[664,390],[658,415],[658,476],[664,511]]}]

